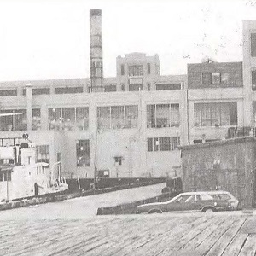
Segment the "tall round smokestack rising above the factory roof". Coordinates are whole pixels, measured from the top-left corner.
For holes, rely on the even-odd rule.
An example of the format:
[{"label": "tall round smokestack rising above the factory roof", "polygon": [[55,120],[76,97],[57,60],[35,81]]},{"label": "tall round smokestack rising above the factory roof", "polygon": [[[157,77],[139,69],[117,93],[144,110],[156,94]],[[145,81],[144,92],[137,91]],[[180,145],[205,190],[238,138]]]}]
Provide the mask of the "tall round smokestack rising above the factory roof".
[{"label": "tall round smokestack rising above the factory roof", "polygon": [[90,92],[103,91],[102,10],[90,9]]}]

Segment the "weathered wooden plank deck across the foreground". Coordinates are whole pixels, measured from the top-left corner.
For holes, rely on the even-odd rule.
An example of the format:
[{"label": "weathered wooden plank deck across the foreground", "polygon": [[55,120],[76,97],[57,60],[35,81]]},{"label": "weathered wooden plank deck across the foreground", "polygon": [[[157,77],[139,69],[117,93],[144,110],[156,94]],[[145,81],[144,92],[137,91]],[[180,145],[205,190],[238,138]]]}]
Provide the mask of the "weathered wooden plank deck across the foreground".
[{"label": "weathered wooden plank deck across the foreground", "polygon": [[256,216],[239,212],[0,220],[0,255],[255,255]]}]

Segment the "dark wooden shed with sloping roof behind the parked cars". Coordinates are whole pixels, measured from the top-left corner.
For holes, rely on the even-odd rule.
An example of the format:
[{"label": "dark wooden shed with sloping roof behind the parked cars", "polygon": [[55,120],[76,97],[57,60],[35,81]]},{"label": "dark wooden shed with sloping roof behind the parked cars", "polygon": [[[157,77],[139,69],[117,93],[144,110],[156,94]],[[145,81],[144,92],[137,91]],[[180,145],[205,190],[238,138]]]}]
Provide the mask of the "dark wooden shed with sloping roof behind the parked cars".
[{"label": "dark wooden shed with sloping roof behind the parked cars", "polygon": [[182,150],[183,191],[229,191],[241,207],[255,203],[256,140],[238,137],[184,146]]}]

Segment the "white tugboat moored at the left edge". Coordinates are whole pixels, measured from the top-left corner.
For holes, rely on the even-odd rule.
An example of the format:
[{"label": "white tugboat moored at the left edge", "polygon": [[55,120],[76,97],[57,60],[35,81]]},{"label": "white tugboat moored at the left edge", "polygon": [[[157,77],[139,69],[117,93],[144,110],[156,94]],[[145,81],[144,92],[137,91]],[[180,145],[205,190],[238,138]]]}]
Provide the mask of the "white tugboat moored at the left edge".
[{"label": "white tugboat moored at the left edge", "polygon": [[[20,138],[12,138],[14,142]],[[22,136],[20,144],[0,146],[0,201],[59,193],[68,189],[60,172],[46,168],[48,163],[36,161],[36,147]]]}]

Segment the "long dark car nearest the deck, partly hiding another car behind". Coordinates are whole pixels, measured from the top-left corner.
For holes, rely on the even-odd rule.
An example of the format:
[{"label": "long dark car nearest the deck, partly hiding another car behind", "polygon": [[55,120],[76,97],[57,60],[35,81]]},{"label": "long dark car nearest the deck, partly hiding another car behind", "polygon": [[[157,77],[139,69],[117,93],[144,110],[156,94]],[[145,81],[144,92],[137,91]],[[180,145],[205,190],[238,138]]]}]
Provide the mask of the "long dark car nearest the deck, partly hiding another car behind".
[{"label": "long dark car nearest the deck, partly hiding another car behind", "polygon": [[230,211],[228,201],[213,199],[207,192],[185,192],[172,198],[170,201],[155,202],[140,205],[137,213],[161,213],[161,212],[216,212]]}]

